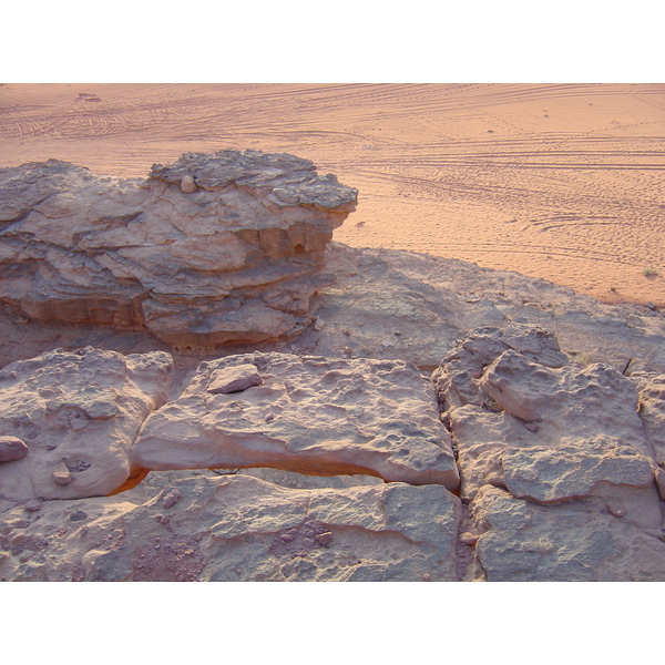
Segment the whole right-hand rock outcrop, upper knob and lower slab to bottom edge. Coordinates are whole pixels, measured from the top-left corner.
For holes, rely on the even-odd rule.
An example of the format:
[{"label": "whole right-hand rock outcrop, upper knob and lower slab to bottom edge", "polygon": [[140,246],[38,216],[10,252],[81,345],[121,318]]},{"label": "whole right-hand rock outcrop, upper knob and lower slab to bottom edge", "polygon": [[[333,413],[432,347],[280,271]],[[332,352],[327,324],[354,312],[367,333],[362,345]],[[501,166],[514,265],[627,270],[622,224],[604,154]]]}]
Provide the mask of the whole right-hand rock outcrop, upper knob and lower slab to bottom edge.
[{"label": "whole right-hand rock outcrop, upper knob and lower slab to bottom edge", "polygon": [[664,579],[659,469],[633,381],[520,325],[468,334],[433,379],[489,580]]}]

